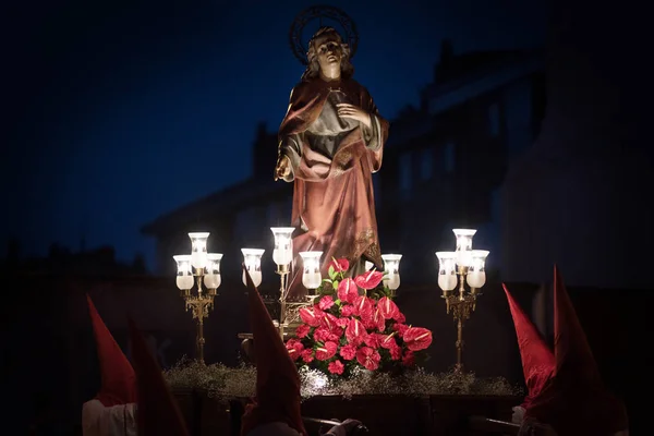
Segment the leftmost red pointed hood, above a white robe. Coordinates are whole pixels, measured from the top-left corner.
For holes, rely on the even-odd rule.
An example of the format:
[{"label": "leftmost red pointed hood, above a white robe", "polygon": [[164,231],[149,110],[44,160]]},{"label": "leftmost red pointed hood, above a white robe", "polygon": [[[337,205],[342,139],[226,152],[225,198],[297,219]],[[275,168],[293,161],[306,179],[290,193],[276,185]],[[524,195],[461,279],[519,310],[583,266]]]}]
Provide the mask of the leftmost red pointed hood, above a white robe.
[{"label": "leftmost red pointed hood, above a white robe", "polygon": [[98,350],[102,385],[96,395],[105,407],[136,402],[136,375],[130,361],[102,322],[90,296],[86,294],[88,314]]}]

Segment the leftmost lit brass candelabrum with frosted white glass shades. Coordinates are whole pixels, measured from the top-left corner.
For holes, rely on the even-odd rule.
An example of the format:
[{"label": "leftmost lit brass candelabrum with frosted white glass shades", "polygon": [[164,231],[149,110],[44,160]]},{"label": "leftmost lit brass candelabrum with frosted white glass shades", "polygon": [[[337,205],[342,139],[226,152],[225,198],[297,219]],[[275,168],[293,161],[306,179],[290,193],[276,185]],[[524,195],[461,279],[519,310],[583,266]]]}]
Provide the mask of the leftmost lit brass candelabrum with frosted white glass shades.
[{"label": "leftmost lit brass candelabrum with frosted white glass shades", "polygon": [[[209,310],[214,308],[214,298],[220,287],[220,261],[222,254],[207,253],[209,233],[189,233],[192,251],[190,255],[173,256],[177,263],[177,287],[184,299],[186,311],[191,308],[197,325],[196,347],[197,360],[204,363],[204,319],[208,318]],[[197,287],[195,293],[191,290]],[[203,289],[204,284],[204,289]]]}]

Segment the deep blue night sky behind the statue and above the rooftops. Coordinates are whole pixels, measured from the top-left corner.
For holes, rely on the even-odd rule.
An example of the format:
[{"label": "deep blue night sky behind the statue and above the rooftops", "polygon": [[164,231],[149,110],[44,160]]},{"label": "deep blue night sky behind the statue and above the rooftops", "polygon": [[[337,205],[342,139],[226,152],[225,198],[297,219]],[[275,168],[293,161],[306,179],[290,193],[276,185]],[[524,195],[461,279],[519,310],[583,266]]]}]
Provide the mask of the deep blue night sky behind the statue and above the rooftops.
[{"label": "deep blue night sky behind the statue and above the rooftops", "polygon": [[[149,261],[142,225],[251,175],[255,125],[277,129],[303,71],[289,26],[314,2],[48,3],[3,14],[0,242],[16,235],[24,255],[45,254],[85,234],[87,247]],[[348,3],[330,2],[358,25],[355,77],[389,119],[417,102],[441,38],[457,52],[522,48],[546,28],[543,0]]]}]

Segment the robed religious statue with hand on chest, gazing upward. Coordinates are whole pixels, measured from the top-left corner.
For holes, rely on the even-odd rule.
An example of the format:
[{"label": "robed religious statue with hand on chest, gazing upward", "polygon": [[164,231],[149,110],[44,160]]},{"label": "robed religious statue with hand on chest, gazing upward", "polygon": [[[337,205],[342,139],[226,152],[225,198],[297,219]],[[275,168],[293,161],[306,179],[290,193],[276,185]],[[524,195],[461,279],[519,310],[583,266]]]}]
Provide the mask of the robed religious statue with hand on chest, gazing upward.
[{"label": "robed religious statue with hand on chest, gazing upward", "polygon": [[[352,78],[349,44],[322,26],[306,49],[306,70],[291,92],[279,128],[275,180],[293,182],[293,271],[289,299],[305,294],[298,253],[323,252],[323,275],[334,258],[351,272],[365,262],[383,270],[372,174],[379,170],[388,122],[367,89]],[[300,274],[299,274],[300,272]]]}]

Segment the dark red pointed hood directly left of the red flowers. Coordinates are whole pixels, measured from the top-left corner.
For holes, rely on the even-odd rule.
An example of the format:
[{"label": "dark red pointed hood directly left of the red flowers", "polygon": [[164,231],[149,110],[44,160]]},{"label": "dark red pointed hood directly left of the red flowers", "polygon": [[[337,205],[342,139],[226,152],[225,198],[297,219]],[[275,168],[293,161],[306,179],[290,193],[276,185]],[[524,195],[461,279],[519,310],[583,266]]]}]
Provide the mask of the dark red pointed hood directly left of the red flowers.
[{"label": "dark red pointed hood directly left of the red flowers", "polygon": [[259,425],[281,422],[306,435],[300,412],[300,376],[279,330],[245,270],[250,325],[254,336],[256,398],[243,415],[241,435]]}]

